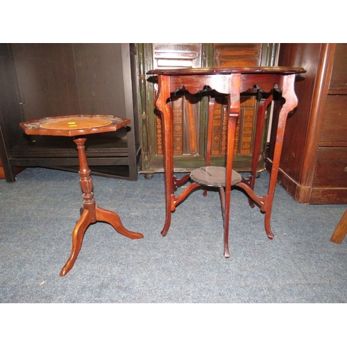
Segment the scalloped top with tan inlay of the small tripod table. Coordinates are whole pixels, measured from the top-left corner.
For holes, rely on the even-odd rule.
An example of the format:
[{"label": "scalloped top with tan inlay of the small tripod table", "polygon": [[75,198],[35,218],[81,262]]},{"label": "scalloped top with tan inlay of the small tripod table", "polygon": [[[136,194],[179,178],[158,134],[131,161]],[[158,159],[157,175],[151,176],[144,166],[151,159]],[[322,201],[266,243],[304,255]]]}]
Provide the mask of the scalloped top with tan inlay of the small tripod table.
[{"label": "scalloped top with tan inlay of the small tripod table", "polygon": [[76,136],[115,131],[127,124],[129,119],[113,115],[69,115],[24,121],[20,126],[28,135]]}]

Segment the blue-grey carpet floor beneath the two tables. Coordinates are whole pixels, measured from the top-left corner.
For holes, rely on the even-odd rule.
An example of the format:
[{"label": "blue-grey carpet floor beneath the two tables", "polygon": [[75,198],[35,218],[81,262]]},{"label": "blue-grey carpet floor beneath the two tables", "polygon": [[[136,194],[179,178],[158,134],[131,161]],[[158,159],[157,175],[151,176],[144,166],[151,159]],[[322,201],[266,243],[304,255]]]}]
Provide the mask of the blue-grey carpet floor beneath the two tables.
[{"label": "blue-grey carpet floor beneath the two tables", "polygon": [[[226,259],[217,192],[193,192],[174,212],[167,236],[160,235],[162,174],[135,182],[93,177],[97,205],[116,211],[144,239],[93,224],[62,278],[82,203],[78,179],[27,168],[15,183],[0,180],[1,303],[347,302],[347,239],[329,241],[347,205],[303,205],[278,185],[269,240],[260,210],[232,191]],[[256,192],[265,194],[268,183],[264,172]]]}]

